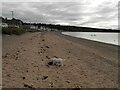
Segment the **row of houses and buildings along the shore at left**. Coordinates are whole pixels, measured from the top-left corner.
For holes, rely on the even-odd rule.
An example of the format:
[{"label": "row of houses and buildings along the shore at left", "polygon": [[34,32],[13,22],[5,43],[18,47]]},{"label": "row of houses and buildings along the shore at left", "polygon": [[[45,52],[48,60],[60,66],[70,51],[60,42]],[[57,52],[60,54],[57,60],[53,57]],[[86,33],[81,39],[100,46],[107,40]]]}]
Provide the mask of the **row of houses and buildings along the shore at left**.
[{"label": "row of houses and buildings along the shore at left", "polygon": [[0,17],[0,21],[1,21],[0,26],[4,28],[24,28],[26,30],[31,29],[31,30],[38,30],[38,31],[53,31],[53,29],[50,29],[46,26],[23,23],[23,21],[15,18],[7,19],[7,18]]}]

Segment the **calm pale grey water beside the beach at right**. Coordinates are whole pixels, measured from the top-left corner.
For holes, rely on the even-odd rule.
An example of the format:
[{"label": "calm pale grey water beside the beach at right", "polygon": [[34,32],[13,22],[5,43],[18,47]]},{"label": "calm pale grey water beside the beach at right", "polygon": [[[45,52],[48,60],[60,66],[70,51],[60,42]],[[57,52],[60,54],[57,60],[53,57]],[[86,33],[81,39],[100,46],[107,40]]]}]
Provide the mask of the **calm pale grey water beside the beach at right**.
[{"label": "calm pale grey water beside the beach at right", "polygon": [[106,32],[62,32],[64,35],[69,35],[77,38],[84,38],[93,41],[99,41],[114,45],[120,45],[118,40],[119,33]]}]

